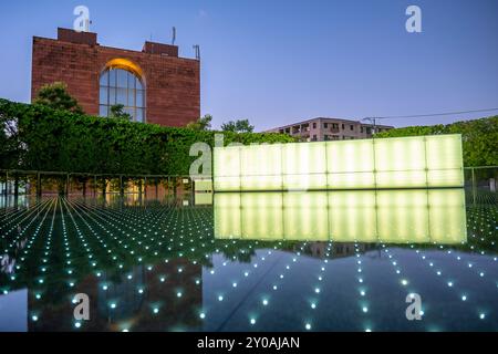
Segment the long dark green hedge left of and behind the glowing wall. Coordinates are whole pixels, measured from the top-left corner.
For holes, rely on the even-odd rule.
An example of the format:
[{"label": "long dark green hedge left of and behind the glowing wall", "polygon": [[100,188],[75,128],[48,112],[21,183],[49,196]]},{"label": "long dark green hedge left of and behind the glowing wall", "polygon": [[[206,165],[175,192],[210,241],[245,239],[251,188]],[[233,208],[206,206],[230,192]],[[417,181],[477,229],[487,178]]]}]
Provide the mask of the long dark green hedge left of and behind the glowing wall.
[{"label": "long dark green hedge left of and behind the glowing wall", "polygon": [[[188,175],[190,147],[214,146],[216,132],[163,127],[0,100],[0,168],[94,174]],[[225,145],[288,143],[281,134],[224,133]],[[9,158],[3,158],[9,156]]]}]

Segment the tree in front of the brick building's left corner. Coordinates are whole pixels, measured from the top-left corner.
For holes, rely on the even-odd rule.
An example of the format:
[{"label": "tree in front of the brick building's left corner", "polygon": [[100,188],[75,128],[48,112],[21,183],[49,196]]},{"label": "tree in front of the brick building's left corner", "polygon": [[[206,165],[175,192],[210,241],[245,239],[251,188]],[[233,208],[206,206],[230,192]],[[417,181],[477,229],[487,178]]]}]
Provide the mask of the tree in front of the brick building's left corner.
[{"label": "tree in front of the brick building's left corner", "polygon": [[84,113],[77,101],[69,94],[68,85],[63,82],[43,85],[33,103],[59,111]]}]

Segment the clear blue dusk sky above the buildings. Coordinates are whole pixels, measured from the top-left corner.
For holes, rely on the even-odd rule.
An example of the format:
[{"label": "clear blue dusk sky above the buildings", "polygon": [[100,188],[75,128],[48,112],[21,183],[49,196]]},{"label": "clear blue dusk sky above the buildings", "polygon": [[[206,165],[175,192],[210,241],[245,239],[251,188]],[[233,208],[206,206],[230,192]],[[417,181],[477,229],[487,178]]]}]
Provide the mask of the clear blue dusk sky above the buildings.
[{"label": "clear blue dusk sky above the buildings", "polygon": [[[0,1],[0,97],[29,102],[32,37],[90,9],[102,45],[201,51],[201,113],[257,131],[317,116],[362,119],[498,107],[496,0]],[[405,30],[422,9],[422,33]],[[395,126],[498,114],[386,119]]]}]

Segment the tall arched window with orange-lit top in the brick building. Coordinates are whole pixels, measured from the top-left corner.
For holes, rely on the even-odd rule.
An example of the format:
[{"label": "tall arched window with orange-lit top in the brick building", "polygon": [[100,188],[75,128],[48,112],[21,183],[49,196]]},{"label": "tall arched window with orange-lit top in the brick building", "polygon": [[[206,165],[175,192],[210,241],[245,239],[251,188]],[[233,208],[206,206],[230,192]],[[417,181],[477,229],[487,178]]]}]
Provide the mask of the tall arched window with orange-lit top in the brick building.
[{"label": "tall arched window with orange-lit top in the brick building", "polygon": [[145,123],[145,84],[141,71],[125,60],[107,63],[100,79],[100,116],[108,117],[111,107],[124,105],[134,122]]}]

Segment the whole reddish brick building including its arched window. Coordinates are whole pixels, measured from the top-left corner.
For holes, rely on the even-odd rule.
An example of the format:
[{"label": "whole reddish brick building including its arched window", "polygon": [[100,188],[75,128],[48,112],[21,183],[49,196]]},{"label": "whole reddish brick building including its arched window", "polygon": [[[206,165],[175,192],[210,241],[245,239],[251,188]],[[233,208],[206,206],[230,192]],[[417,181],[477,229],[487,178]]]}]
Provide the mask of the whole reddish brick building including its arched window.
[{"label": "whole reddish brick building including its arched window", "polygon": [[32,100],[54,82],[90,115],[123,104],[136,122],[184,126],[200,116],[200,62],[179,58],[175,45],[123,50],[100,45],[96,33],[59,29],[56,40],[33,38]]}]

